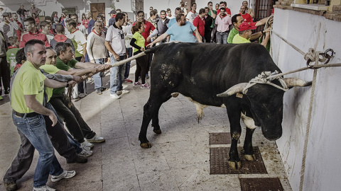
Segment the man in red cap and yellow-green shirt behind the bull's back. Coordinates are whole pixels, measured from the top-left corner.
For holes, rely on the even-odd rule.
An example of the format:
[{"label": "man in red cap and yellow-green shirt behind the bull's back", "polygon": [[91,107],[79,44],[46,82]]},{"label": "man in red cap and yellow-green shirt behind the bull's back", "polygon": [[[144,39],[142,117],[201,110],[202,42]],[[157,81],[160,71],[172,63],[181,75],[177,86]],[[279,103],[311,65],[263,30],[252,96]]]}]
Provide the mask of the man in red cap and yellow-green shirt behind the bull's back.
[{"label": "man in red cap and yellow-green shirt behind the bull's back", "polygon": [[[238,35],[233,37],[232,43],[233,44],[242,44],[242,43],[249,43],[251,37],[251,30],[256,29],[256,26],[251,26],[249,23],[242,23],[239,25]],[[261,42],[261,45],[266,47],[270,38],[270,32],[266,32],[265,39]]]}]

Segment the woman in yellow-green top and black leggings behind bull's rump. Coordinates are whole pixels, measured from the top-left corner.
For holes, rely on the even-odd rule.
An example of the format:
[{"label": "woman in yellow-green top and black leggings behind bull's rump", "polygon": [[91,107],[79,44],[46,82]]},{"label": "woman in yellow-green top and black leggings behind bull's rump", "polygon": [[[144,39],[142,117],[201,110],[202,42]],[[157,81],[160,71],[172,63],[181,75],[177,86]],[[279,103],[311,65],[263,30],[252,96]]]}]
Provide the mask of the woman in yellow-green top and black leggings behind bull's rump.
[{"label": "woman in yellow-green top and black leggings behind bull's rump", "polygon": [[[133,38],[130,41],[130,45],[134,47],[134,55],[144,52],[144,42],[146,40],[144,40],[144,36],[141,35],[141,33],[144,33],[144,23],[137,21],[133,28],[131,28],[131,33],[133,34]],[[141,89],[151,88],[146,82],[147,65],[148,55],[136,59],[135,87],[141,86]],[[139,83],[139,76],[141,76],[142,83]]]}]

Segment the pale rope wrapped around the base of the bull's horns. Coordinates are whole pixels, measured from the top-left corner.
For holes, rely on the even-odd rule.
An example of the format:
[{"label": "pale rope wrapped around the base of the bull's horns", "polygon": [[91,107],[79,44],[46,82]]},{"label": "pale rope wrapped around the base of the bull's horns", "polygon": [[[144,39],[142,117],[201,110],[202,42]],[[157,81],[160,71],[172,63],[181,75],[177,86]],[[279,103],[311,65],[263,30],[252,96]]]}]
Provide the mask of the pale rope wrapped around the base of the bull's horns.
[{"label": "pale rope wrapped around the base of the bull's horns", "polygon": [[[247,90],[249,88],[251,88],[252,86],[256,85],[257,83],[262,83],[262,84],[268,84],[271,86],[274,86],[275,88],[278,88],[282,91],[288,91],[289,88],[286,85],[286,82],[283,80],[282,76],[276,76],[274,78],[269,78],[269,76],[273,76],[278,74],[278,71],[275,70],[274,72],[271,71],[263,71],[261,72],[261,74],[258,74],[258,76],[256,76],[254,79],[251,79],[249,81],[249,83],[247,84],[247,86],[245,86],[245,88],[243,89],[243,94],[247,94]],[[271,81],[273,81],[274,79],[278,79],[278,81],[281,83],[281,86],[276,85],[275,83],[272,83]]]}]

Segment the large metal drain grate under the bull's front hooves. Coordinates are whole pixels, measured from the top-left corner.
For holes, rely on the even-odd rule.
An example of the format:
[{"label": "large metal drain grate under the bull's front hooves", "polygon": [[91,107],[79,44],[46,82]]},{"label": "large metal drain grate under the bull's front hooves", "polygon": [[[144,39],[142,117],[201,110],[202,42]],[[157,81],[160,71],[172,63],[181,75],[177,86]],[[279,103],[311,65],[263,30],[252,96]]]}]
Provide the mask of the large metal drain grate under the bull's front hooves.
[{"label": "large metal drain grate under the bull's front hooves", "polygon": [[210,174],[267,174],[263,158],[261,158],[261,153],[257,146],[254,146],[256,161],[246,161],[242,147],[238,147],[238,151],[239,158],[242,161],[242,168],[232,170],[227,163],[229,159],[229,147],[210,148]]}]

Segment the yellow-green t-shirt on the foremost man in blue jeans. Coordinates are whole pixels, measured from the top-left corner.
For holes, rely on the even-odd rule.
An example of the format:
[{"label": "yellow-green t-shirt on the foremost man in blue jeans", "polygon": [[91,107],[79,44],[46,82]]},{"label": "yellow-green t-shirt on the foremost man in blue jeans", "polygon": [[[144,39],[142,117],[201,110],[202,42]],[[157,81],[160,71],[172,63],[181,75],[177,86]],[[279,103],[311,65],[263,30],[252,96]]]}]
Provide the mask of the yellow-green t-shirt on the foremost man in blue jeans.
[{"label": "yellow-green t-shirt on the foremost man in blue jeans", "polygon": [[26,61],[16,74],[11,89],[11,107],[16,112],[33,112],[27,108],[24,95],[36,95],[39,103],[43,104],[45,76],[31,62]]}]

